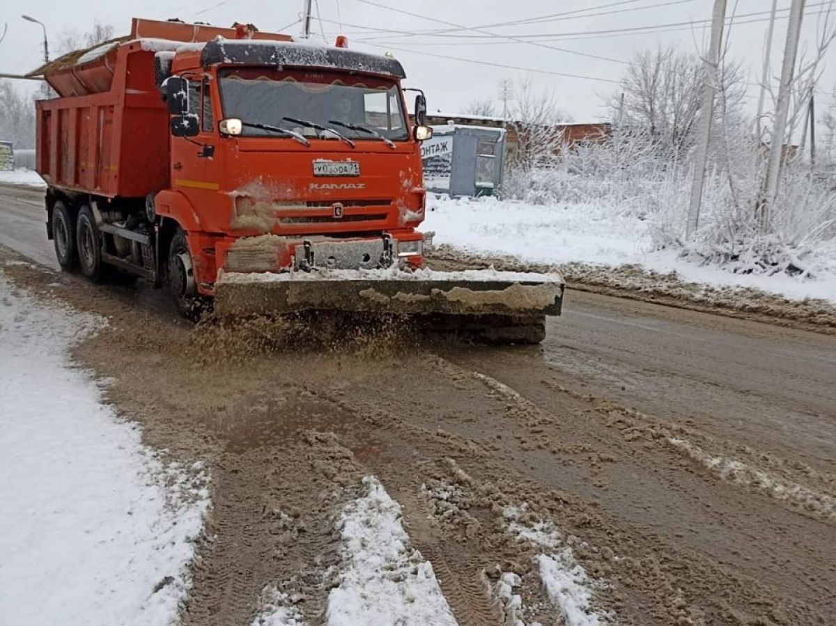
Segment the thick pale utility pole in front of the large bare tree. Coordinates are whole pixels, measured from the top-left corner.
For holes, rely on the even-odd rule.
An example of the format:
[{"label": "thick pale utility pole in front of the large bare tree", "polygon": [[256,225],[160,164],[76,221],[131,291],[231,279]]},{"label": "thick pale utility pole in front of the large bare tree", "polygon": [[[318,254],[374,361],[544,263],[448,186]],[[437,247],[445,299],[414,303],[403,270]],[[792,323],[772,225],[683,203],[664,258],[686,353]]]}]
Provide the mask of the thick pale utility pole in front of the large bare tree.
[{"label": "thick pale utility pole in front of the large bare tree", "polygon": [[720,48],[723,41],[723,23],[726,21],[726,0],[714,0],[714,13],[711,18],[711,44],[704,59],[706,82],[702,85],[702,108],[700,127],[697,129],[696,155],[694,157],[694,181],[691,184],[691,202],[688,206],[688,224],[686,238],[691,239],[700,223],[700,204],[702,201],[702,182],[706,176],[708,143],[711,140],[711,118],[714,117],[714,98],[719,85]]}]

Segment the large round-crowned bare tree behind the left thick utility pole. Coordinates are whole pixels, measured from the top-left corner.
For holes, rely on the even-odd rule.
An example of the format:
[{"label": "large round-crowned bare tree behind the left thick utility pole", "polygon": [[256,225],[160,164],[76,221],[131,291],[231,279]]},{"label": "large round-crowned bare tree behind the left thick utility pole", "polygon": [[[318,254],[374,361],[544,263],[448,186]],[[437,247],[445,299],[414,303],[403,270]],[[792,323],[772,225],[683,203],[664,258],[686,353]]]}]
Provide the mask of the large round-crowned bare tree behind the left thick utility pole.
[{"label": "large round-crowned bare tree behind the left thick utility pole", "polygon": [[[646,129],[665,156],[679,159],[691,148],[707,78],[696,54],[675,48],[640,52],[606,103],[614,120]],[[739,66],[722,65],[721,94],[738,102],[742,99]]]}]

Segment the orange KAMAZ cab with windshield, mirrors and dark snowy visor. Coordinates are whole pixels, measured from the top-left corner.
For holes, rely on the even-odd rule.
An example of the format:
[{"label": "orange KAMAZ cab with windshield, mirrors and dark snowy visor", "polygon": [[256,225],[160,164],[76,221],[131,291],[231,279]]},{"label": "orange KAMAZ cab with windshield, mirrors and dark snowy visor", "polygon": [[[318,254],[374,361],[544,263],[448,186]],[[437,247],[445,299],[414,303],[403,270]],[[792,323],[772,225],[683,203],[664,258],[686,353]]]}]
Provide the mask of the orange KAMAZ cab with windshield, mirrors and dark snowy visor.
[{"label": "orange KAMAZ cab with windshield, mirrors and dark snowy visor", "polygon": [[219,270],[421,267],[429,132],[395,59],[250,40],[158,56],[171,187],[153,205],[186,228],[198,293]]}]

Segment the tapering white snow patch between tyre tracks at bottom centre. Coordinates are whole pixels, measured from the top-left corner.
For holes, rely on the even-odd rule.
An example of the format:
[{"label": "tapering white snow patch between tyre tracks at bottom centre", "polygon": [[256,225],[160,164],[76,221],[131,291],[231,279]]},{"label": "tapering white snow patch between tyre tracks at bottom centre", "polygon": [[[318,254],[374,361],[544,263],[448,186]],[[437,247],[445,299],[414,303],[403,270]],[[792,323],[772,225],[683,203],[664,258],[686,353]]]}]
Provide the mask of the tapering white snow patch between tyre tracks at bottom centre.
[{"label": "tapering white snow patch between tyre tracks at bottom centre", "polygon": [[372,476],[339,517],[344,570],[328,598],[329,626],[455,626],[430,562],[410,547],[400,505]]}]

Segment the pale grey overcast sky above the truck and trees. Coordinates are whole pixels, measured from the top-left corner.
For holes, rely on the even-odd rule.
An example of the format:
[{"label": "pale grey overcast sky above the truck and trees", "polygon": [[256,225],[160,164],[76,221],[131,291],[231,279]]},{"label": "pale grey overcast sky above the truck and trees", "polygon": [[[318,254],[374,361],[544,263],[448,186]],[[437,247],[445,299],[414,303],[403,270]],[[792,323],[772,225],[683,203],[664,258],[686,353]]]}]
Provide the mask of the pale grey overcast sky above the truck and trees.
[{"label": "pale grey overcast sky above the truck and trees", "polygon": [[[601,95],[617,89],[614,82],[608,81],[617,81],[624,71],[624,61],[638,51],[670,44],[689,51],[701,49],[709,28],[704,21],[711,19],[714,4],[713,0],[370,2],[382,6],[371,6],[360,0],[314,2],[314,18],[318,12],[317,3],[322,18],[321,22],[314,19],[312,23],[314,37],[321,39],[324,31],[329,42],[333,42],[337,33],[346,33],[352,48],[377,53],[390,50],[404,64],[408,76],[406,85],[426,90],[432,111],[441,109],[453,113],[475,99],[497,99],[500,80],[511,79],[518,86],[530,77],[538,87],[553,90],[561,108],[579,121],[606,118]],[[302,0],[123,0],[100,3],[99,6],[66,0],[28,0],[15,3],[12,10],[9,8],[12,3],[12,0],[4,0],[0,13],[0,33],[3,23],[8,23],[8,34],[0,43],[0,72],[8,73],[36,68],[43,57],[41,28],[23,21],[19,13],[41,20],[48,35],[57,41],[62,31],[84,32],[96,21],[113,25],[117,34],[127,33],[131,17],[176,17],[223,26],[240,21],[273,31],[296,22],[303,6]],[[728,15],[734,12],[741,16],[738,18],[741,23],[726,31],[729,53],[743,62],[749,73],[748,80],[754,83],[749,87],[752,109],[757,103],[757,81],[762,71],[770,5],[770,0],[728,0]],[[779,9],[787,9],[789,5],[790,0],[778,0]],[[821,27],[821,16],[816,13],[822,12],[828,2],[808,0],[807,5],[803,45],[812,49]],[[416,15],[400,13],[403,11]],[[556,15],[558,13],[560,15]],[[751,13],[760,14],[749,16]],[[786,18],[780,17],[787,14],[787,10],[778,12],[772,53],[773,74],[780,70],[788,23]],[[507,24],[523,20],[530,21]],[[831,17],[831,23],[834,21],[836,14]],[[625,30],[651,25],[663,25],[659,30],[666,32]],[[477,27],[481,32],[456,29],[456,26]],[[295,23],[282,32],[296,35],[300,28]],[[510,38],[492,37],[490,33]],[[541,35],[534,39],[536,44],[523,43],[523,40],[530,41],[533,35]],[[430,54],[472,59],[483,64],[442,59]],[[818,94],[821,109],[833,101],[836,44],[828,57],[818,87],[823,92]]]}]

